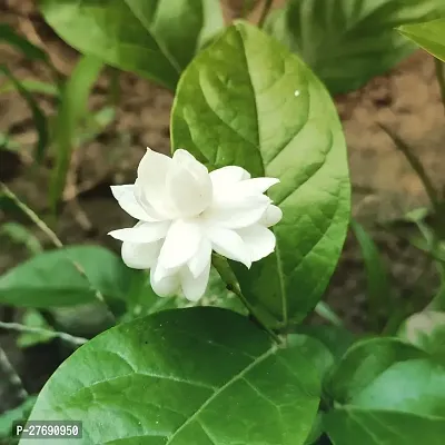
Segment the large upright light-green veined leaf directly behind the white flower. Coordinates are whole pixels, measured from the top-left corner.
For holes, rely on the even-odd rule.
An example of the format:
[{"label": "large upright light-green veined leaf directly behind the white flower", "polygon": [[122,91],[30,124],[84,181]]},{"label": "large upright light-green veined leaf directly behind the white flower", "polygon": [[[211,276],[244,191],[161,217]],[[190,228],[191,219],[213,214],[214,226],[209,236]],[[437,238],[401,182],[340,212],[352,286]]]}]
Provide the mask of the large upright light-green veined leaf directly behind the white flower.
[{"label": "large upright light-green veined leaf directly behind the white flower", "polygon": [[237,22],[185,71],[171,139],[212,167],[280,179],[270,191],[284,212],[276,253],[234,268],[267,323],[301,320],[326,288],[349,219],[345,140],[325,88],[286,48]]}]

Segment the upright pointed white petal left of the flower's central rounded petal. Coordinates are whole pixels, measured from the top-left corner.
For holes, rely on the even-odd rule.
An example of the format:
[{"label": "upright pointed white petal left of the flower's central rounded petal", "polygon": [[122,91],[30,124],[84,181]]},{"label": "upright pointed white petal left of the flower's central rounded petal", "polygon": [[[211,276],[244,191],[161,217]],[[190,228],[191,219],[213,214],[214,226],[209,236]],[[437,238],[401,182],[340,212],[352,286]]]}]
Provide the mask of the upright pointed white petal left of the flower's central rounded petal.
[{"label": "upright pointed white petal left of the flower's central rounded petal", "polygon": [[171,165],[171,158],[147,148],[138,167],[137,199],[144,207],[151,206],[164,217],[174,216],[166,188]]}]

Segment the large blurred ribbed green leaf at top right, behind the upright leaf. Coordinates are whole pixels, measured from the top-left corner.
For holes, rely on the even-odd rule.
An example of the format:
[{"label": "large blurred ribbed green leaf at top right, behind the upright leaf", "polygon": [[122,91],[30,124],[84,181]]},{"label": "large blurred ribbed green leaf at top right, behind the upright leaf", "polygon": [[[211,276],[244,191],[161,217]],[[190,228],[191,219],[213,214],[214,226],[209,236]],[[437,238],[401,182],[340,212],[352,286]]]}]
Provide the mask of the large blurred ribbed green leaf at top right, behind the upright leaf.
[{"label": "large blurred ribbed green leaf at top right, behind the upright leaf", "polygon": [[332,93],[355,90],[409,56],[395,27],[436,19],[442,0],[290,0],[267,30],[301,55]]}]

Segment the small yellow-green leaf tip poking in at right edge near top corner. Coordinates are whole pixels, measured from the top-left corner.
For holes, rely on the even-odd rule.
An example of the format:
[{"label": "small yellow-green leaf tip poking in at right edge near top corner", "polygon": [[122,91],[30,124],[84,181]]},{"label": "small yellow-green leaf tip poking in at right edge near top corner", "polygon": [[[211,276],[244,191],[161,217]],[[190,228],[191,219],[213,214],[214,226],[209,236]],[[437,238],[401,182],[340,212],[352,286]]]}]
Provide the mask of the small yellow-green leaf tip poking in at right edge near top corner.
[{"label": "small yellow-green leaf tip poking in at right edge near top corner", "polygon": [[404,24],[398,28],[398,31],[437,59],[445,61],[445,19]]}]

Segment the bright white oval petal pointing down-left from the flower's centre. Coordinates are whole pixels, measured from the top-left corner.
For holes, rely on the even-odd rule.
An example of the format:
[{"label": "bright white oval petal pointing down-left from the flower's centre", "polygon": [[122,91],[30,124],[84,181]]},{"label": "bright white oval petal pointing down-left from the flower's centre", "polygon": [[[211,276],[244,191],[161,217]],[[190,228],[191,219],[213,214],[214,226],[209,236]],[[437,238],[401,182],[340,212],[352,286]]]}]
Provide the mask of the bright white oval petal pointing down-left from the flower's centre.
[{"label": "bright white oval petal pointing down-left from the flower's centre", "polygon": [[202,235],[197,221],[175,220],[160,250],[159,264],[166,269],[186,264],[197,253]]}]

